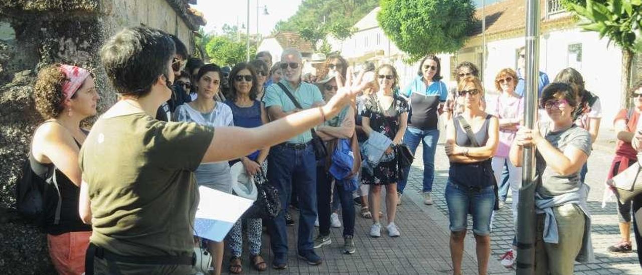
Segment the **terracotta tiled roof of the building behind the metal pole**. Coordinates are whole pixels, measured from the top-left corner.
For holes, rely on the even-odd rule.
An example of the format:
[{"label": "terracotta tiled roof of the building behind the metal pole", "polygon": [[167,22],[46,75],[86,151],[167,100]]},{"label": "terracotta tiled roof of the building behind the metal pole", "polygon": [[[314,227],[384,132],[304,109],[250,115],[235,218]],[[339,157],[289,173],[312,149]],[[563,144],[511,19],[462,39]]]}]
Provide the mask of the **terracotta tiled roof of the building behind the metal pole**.
[{"label": "terracotta tiled roof of the building behind the metal pole", "polygon": [[[540,18],[541,22],[553,22],[562,19],[568,19],[570,14],[562,15],[561,17],[553,17],[545,20],[546,18],[546,1],[540,0]],[[505,0],[486,6],[486,35],[495,33],[503,33],[505,31],[519,30],[526,27],[526,6],[524,0]],[[470,36],[474,37],[482,34],[482,8],[478,8],[475,12],[475,18],[480,21],[475,26],[474,31]]]}]

